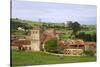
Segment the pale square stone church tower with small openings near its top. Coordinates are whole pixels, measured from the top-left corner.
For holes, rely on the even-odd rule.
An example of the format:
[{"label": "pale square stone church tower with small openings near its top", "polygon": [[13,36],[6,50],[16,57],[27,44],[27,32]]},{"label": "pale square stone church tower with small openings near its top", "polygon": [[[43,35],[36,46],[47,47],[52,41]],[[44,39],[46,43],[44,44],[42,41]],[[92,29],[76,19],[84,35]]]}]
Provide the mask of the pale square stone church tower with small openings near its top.
[{"label": "pale square stone church tower with small openings near its top", "polygon": [[40,30],[31,30],[31,51],[40,51]]}]

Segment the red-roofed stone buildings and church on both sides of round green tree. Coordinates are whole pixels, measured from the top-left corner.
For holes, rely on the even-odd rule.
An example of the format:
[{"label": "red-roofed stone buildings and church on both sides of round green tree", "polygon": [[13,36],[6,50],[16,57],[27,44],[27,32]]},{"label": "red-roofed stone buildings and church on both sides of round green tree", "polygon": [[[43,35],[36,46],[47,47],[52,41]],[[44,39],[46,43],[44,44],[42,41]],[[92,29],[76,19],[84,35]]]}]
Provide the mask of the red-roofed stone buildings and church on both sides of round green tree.
[{"label": "red-roofed stone buildings and church on both sides of round green tree", "polygon": [[[57,38],[54,29],[46,29],[41,33],[41,29],[33,28],[29,36],[18,38],[11,35],[12,49],[40,51],[44,49],[45,43],[51,38]],[[96,53],[96,42],[84,42],[80,39],[59,40],[59,44],[64,48],[64,54],[67,56],[79,56],[84,50],[92,50]]]}]

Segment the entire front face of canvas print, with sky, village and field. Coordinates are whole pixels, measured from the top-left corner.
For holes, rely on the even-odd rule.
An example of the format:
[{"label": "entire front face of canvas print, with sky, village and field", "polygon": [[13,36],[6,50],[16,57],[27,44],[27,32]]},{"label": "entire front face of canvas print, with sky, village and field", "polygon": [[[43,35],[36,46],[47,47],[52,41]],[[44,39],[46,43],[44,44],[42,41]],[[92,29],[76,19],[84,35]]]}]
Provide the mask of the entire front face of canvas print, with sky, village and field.
[{"label": "entire front face of canvas print, with sky, village and field", "polygon": [[11,66],[95,62],[95,5],[12,1]]}]

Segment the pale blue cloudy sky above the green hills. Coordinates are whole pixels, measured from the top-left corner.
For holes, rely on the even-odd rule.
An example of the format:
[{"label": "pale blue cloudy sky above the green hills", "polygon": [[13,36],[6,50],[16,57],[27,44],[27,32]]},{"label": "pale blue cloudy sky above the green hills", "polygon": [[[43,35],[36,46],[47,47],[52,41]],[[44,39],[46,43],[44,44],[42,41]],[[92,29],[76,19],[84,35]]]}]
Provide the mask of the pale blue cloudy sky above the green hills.
[{"label": "pale blue cloudy sky above the green hills", "polygon": [[12,0],[12,18],[43,22],[96,24],[96,6]]}]

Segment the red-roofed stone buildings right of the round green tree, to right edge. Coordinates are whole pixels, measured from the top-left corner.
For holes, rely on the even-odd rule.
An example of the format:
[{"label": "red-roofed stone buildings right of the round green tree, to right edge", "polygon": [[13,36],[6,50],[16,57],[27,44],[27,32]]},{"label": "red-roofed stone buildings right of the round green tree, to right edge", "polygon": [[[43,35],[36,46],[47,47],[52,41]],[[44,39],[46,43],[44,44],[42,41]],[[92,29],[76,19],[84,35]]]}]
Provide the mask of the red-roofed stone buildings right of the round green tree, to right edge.
[{"label": "red-roofed stone buildings right of the round green tree, to right edge", "polygon": [[67,56],[80,56],[84,51],[96,53],[96,42],[84,42],[80,39],[60,41],[59,44],[64,48]]}]

